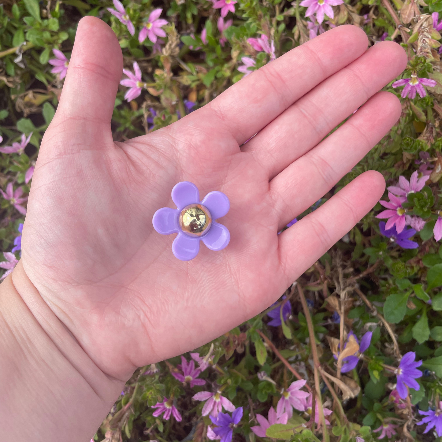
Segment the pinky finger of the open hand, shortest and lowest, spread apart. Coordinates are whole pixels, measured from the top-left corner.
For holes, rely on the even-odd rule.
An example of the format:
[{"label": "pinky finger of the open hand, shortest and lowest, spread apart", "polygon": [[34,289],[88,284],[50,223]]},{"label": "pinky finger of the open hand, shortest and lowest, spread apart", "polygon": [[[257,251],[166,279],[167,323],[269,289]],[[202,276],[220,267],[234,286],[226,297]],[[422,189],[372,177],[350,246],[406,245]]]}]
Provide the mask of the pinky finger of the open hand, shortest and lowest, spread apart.
[{"label": "pinky finger of the open hand, shortest and lowest, spread apart", "polygon": [[384,189],[385,179],[379,172],[364,172],[323,206],[278,235],[287,282],[295,281],[351,230],[373,208]]}]

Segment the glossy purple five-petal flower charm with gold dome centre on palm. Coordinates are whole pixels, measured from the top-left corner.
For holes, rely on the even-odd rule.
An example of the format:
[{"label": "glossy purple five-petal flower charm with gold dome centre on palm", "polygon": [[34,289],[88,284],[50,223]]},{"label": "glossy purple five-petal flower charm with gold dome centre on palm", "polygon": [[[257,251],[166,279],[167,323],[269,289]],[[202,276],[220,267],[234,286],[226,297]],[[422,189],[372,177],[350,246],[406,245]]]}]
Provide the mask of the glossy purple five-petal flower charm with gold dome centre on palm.
[{"label": "glossy purple five-petal flower charm with gold dome centre on palm", "polygon": [[181,181],[172,189],[172,201],[178,209],[158,209],[152,224],[161,235],[178,233],[172,243],[176,258],[181,261],[194,259],[198,255],[200,241],[214,251],[229,244],[229,230],[215,221],[229,212],[230,202],[225,194],[213,191],[200,202],[198,187],[189,181]]}]

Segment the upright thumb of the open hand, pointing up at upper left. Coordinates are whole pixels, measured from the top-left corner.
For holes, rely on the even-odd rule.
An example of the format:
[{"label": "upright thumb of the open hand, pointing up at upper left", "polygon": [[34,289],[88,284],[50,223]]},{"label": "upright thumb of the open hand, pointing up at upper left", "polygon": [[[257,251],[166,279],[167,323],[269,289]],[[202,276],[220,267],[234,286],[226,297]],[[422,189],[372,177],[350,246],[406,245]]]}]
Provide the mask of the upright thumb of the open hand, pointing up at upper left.
[{"label": "upright thumb of the open hand, pointing up at upper left", "polygon": [[[110,120],[122,68],[122,52],[114,31],[96,17],[82,18],[52,126],[62,128],[65,134],[75,132],[77,140],[81,133],[89,143],[105,134],[111,141]],[[99,144],[103,141],[108,140],[102,139]]]}]

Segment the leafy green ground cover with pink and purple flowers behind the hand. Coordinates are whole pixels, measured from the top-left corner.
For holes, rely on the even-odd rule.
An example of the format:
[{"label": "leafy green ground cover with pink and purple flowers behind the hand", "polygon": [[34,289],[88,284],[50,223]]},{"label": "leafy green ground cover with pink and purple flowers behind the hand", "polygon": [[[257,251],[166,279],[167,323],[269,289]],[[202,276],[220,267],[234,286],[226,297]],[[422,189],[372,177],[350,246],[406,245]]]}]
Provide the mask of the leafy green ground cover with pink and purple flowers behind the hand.
[{"label": "leafy green ground cover with pink and purple flowers behind the hand", "polygon": [[117,141],[175,122],[332,27],[362,27],[370,45],[394,40],[408,53],[385,88],[402,102],[396,126],[297,219],[368,169],[385,176],[385,198],[267,311],[137,370],[93,440],[442,441],[441,11],[440,0],[0,5],[2,278],[21,253],[35,160],[82,16],[103,19],[122,48]]}]

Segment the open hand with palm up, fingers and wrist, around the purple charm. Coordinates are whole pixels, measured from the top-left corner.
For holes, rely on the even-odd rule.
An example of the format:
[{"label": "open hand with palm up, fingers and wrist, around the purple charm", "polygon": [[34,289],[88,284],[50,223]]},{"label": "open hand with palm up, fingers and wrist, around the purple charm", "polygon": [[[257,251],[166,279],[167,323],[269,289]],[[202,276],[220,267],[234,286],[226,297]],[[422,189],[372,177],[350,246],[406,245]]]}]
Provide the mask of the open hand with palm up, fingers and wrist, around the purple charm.
[{"label": "open hand with palm up, fingers and wrist, around the purple charm", "polygon": [[[35,167],[22,259],[0,286],[2,441],[88,441],[137,367],[266,309],[371,210],[385,187],[376,171],[277,234],[400,116],[399,100],[378,91],[406,54],[367,45],[361,29],[339,26],[171,126],[119,143],[110,120],[121,49],[103,21],[80,20]],[[179,261],[174,235],[155,232],[152,216],[175,208],[180,181],[201,199],[229,197],[219,220],[227,248],[201,243]]]}]

